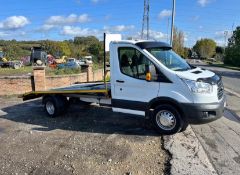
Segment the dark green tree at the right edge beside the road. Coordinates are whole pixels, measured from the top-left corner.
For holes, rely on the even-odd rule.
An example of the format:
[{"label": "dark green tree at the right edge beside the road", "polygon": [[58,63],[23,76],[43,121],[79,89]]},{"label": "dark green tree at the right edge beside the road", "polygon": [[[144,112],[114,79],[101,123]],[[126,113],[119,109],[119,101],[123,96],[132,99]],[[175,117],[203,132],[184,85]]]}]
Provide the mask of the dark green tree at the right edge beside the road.
[{"label": "dark green tree at the right edge beside the road", "polygon": [[231,38],[229,38],[225,54],[225,64],[240,66],[240,26],[233,31]]}]

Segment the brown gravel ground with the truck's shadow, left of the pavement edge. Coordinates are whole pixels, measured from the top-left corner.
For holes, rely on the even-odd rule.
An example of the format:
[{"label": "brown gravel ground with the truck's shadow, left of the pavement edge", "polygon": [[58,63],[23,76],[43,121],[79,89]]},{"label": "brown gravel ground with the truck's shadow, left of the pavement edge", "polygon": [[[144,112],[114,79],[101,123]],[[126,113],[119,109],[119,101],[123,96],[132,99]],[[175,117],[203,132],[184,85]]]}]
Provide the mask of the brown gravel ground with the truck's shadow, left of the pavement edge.
[{"label": "brown gravel ground with the truck's shadow, left of the pavement edge", "polygon": [[162,137],[145,120],[74,106],[46,117],[41,101],[0,97],[0,174],[168,174]]}]

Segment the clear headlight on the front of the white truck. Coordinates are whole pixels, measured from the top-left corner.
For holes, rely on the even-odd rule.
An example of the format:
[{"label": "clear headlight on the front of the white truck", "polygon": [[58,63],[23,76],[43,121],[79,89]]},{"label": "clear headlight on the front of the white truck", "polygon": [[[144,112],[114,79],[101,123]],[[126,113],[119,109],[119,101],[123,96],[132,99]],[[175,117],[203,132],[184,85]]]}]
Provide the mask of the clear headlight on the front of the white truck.
[{"label": "clear headlight on the front of the white truck", "polygon": [[186,79],[182,79],[182,80],[187,84],[187,86],[193,93],[210,94],[213,92],[213,87],[209,83],[204,83],[201,81],[186,80]]}]

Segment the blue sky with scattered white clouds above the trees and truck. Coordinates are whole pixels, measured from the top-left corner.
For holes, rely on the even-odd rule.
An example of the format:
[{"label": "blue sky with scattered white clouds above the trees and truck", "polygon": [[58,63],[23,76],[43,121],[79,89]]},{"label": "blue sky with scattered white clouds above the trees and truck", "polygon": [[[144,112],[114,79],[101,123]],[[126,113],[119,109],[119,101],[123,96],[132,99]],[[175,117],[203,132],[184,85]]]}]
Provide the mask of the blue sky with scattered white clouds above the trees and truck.
[{"label": "blue sky with scattered white clouds above the trees and truck", "polygon": [[[0,39],[68,40],[120,33],[140,39],[144,0],[1,0]],[[172,0],[150,0],[150,38],[169,42]],[[201,38],[225,45],[240,25],[239,0],[176,0],[175,26],[185,46]],[[225,33],[225,34],[224,34]]]}]

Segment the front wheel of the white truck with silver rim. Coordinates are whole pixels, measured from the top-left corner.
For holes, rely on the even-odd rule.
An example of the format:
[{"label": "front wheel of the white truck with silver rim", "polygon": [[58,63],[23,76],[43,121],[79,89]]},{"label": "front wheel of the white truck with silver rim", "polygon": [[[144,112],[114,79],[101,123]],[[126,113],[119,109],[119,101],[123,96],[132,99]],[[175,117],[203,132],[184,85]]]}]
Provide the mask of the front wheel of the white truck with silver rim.
[{"label": "front wheel of the white truck with silver rim", "polygon": [[163,135],[178,133],[184,123],[178,110],[170,104],[157,106],[151,119],[156,130]]}]

